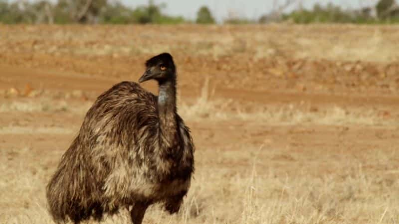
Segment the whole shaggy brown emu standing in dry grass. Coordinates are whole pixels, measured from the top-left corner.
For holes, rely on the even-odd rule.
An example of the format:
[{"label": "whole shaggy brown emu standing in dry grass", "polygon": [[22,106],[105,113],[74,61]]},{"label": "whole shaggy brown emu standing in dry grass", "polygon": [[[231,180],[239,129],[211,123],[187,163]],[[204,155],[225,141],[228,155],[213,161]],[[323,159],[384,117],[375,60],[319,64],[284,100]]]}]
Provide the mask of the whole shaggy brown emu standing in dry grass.
[{"label": "whole shaggy brown emu standing in dry grass", "polygon": [[56,223],[101,221],[126,208],[132,223],[141,224],[155,203],[170,214],[179,211],[194,173],[195,146],[177,113],[172,56],[162,53],[145,65],[139,83],[156,80],[158,97],[121,82],[86,113],[46,188]]}]

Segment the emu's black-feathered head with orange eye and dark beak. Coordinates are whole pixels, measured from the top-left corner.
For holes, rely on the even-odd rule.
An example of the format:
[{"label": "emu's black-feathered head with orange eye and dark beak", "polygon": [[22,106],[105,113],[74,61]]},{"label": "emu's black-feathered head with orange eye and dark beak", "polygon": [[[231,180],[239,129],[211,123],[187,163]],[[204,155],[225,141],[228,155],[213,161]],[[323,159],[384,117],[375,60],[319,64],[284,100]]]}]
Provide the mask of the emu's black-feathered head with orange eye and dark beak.
[{"label": "emu's black-feathered head with orange eye and dark beak", "polygon": [[176,79],[176,67],[172,55],[162,53],[147,60],[146,71],[140,77],[139,83],[151,79],[157,80],[158,83]]}]

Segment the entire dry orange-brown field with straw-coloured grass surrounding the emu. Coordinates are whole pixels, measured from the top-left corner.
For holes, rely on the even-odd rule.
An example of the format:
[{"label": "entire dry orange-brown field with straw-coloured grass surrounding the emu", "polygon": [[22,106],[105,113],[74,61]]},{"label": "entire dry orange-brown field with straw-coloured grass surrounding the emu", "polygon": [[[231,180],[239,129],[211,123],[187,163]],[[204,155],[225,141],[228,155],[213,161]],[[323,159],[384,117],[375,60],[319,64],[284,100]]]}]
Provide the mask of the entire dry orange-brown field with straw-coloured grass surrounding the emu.
[{"label": "entire dry orange-brown field with straw-coloured grass surrounding the emu", "polygon": [[45,185],[85,112],[165,51],[196,173],[144,223],[399,223],[399,26],[271,24],[0,25],[1,224],[52,223]]}]

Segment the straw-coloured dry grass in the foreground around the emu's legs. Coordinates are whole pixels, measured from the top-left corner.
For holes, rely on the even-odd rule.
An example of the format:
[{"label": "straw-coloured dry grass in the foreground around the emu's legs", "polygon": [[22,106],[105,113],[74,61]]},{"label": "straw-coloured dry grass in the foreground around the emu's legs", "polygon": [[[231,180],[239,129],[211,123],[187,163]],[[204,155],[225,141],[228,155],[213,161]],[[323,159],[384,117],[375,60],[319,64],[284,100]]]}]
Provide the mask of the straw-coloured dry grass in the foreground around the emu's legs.
[{"label": "straw-coloured dry grass in the foreground around the emu's legs", "polygon": [[[169,216],[155,206],[147,213],[146,223],[399,222],[399,182],[390,178],[389,172],[370,174],[364,172],[359,161],[348,164],[345,163],[349,161],[331,161],[329,166],[339,172],[313,176],[304,168],[296,175],[290,175],[281,173],[273,165],[265,165],[273,164],[274,150],[247,149],[247,155],[239,152],[242,148],[234,150],[238,151],[200,149],[195,180],[182,211]],[[4,151],[2,148],[0,159],[3,176],[0,182],[1,223],[51,223],[46,212],[44,186],[54,170],[54,167],[49,170],[45,167],[53,158],[32,161],[26,156],[29,148],[24,148],[8,150],[8,153],[14,153],[10,161]],[[216,161],[209,161],[210,155]],[[387,156],[380,154],[377,159]],[[218,164],[218,161],[236,164],[237,158],[248,162],[236,165],[234,169]],[[107,218],[105,223],[127,223],[127,217],[127,212],[123,211],[119,216]]]}]

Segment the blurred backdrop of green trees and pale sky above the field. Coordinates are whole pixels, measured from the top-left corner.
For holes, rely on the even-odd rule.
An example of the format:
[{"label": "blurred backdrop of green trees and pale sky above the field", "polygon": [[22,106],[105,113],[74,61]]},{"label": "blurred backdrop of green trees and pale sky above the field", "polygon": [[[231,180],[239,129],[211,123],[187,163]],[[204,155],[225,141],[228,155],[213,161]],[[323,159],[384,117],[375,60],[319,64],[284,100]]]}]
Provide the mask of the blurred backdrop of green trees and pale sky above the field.
[{"label": "blurred backdrop of green trees and pale sky above the field", "polygon": [[1,0],[0,21],[13,23],[394,23],[395,0]]}]

